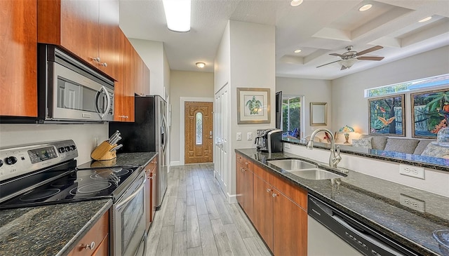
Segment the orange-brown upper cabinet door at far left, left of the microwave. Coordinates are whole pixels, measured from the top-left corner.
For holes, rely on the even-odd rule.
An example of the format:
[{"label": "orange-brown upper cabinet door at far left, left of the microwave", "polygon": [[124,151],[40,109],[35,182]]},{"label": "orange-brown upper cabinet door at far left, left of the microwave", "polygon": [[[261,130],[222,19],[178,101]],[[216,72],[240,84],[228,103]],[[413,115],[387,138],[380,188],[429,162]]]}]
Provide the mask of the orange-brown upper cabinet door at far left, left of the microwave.
[{"label": "orange-brown upper cabinet door at far left, left of the microwave", "polygon": [[36,1],[0,1],[0,116],[37,116]]}]

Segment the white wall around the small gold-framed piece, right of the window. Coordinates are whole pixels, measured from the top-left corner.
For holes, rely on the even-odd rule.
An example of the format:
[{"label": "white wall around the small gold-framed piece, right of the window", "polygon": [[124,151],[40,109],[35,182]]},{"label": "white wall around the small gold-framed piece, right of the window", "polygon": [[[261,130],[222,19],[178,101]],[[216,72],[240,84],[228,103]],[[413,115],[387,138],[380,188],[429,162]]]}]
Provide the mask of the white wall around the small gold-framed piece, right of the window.
[{"label": "white wall around the small gold-framed piece, right of the window", "polygon": [[[283,95],[304,95],[304,137],[311,135],[316,128],[330,128],[333,102],[329,80],[276,77],[276,92],[279,91]],[[327,126],[310,126],[310,102],[328,102]]]}]

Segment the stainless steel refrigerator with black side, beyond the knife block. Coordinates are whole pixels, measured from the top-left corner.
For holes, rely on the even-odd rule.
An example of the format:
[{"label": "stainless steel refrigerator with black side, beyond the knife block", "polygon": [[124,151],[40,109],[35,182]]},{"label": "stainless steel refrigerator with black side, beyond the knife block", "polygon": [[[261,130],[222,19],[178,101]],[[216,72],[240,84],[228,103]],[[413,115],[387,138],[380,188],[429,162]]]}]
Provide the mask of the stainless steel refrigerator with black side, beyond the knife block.
[{"label": "stainless steel refrigerator with black side, beyond the knife block", "polygon": [[134,123],[111,122],[109,135],[116,130],[121,133],[123,144],[119,152],[159,152],[156,184],[157,209],[161,206],[167,190],[168,175],[168,126],[167,103],[159,95],[135,96]]}]

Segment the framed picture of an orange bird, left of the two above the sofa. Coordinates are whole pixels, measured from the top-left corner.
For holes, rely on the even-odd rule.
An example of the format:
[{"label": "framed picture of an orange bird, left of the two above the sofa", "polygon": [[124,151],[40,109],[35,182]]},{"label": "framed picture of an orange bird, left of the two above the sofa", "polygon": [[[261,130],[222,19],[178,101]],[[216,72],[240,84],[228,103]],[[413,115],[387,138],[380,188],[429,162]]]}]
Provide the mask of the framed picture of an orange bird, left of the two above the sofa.
[{"label": "framed picture of an orange bird, left of the two above the sofa", "polygon": [[404,97],[401,94],[368,99],[368,134],[406,136]]}]

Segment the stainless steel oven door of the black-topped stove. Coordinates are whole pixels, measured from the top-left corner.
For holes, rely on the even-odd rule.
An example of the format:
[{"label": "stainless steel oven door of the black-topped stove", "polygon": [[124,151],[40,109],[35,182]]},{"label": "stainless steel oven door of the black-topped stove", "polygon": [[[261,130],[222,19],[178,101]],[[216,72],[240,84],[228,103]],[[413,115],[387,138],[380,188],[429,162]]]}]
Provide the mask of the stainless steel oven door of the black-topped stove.
[{"label": "stainless steel oven door of the black-topped stove", "polygon": [[112,211],[112,248],[115,256],[135,255],[145,235],[145,172],[130,185]]}]

